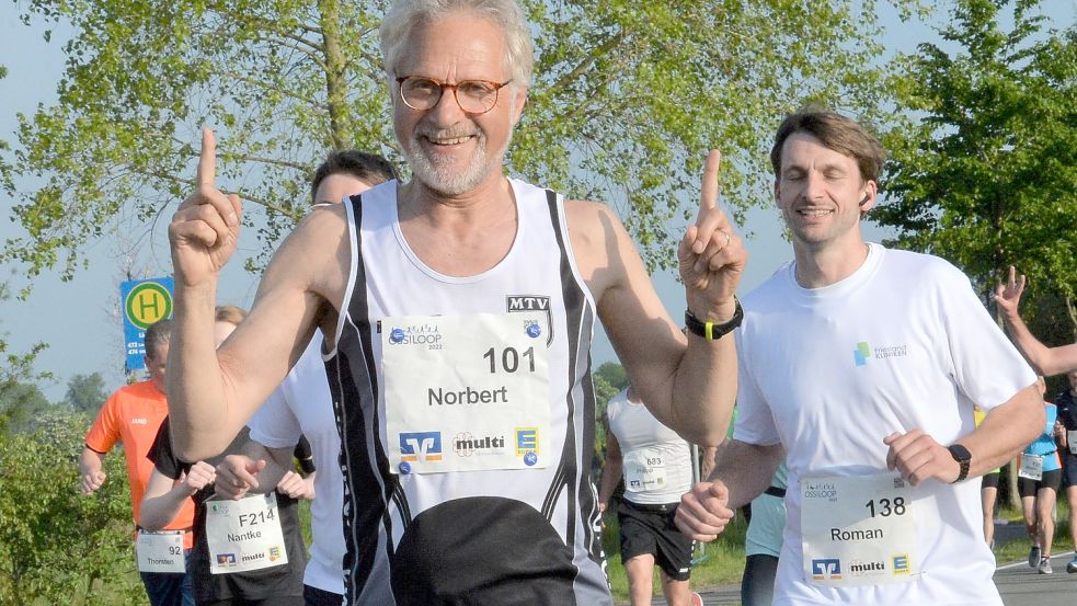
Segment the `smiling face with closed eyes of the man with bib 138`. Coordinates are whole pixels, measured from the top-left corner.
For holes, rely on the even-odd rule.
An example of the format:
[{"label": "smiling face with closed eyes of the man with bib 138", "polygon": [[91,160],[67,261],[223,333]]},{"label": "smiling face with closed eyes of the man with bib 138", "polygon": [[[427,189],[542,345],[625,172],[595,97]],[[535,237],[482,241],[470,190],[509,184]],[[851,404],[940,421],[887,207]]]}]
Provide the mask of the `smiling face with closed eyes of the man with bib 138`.
[{"label": "smiling face with closed eyes of the man with bib 138", "polygon": [[795,247],[861,247],[860,216],[874,206],[875,193],[875,182],[861,179],[851,157],[807,133],[786,139],[775,198]]}]

